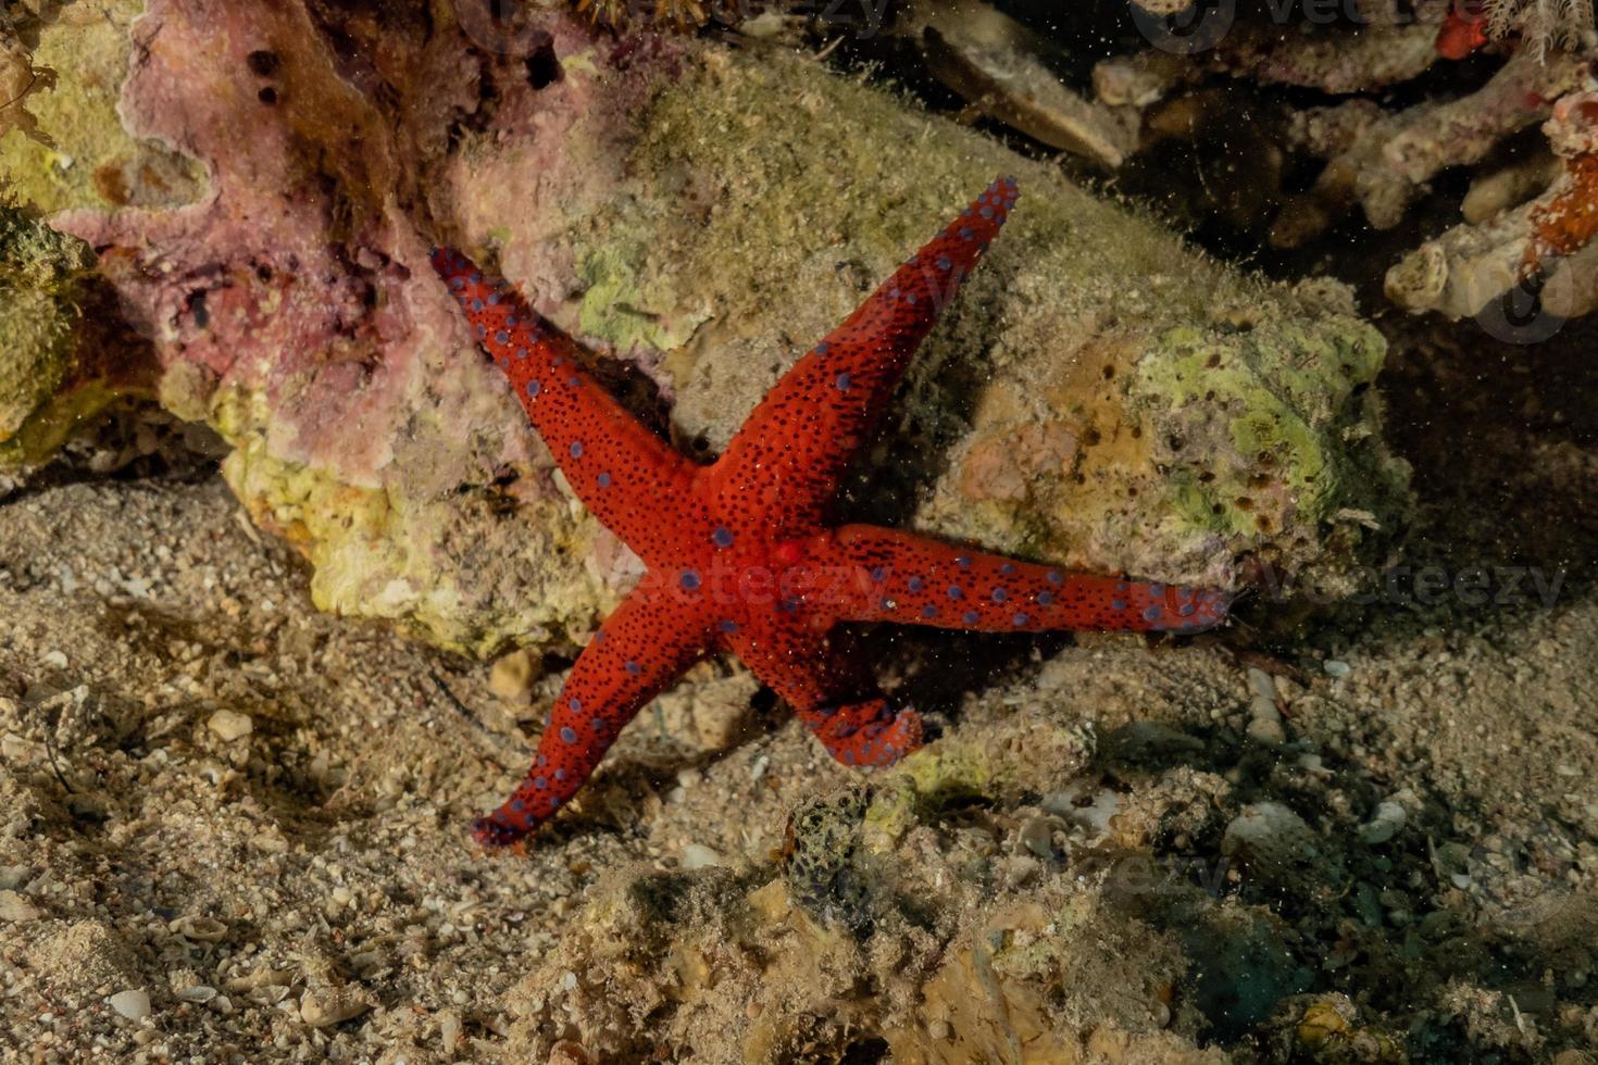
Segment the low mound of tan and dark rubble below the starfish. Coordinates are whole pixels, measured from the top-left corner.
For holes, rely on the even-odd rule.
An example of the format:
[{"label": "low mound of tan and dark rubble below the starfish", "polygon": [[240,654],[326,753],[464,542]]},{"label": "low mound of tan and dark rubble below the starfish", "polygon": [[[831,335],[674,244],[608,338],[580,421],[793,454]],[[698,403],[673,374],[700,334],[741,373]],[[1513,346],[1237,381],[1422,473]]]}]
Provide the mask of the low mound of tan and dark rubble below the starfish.
[{"label": "low mound of tan and dark rubble below the starfish", "polygon": [[[1285,752],[1155,720],[1085,731],[1050,711],[1082,669],[1050,663],[1026,714],[967,706],[935,747],[793,805],[770,856],[610,873],[511,992],[508,1046],[529,1060],[561,1046],[594,1060],[1441,1060],[1449,1009],[1483,1031],[1507,1011],[1454,984],[1467,958],[1572,974],[1595,960],[1569,939],[1598,913],[1590,894],[1462,923],[1485,867],[1464,873],[1424,841],[1446,819],[1429,800],[1350,802],[1358,774],[1298,730]],[[1280,690],[1301,720],[1328,709]],[[1406,993],[1448,1004],[1437,1031],[1312,992],[1314,940],[1336,944],[1315,953],[1331,971],[1403,969]],[[1213,1046],[1245,1031],[1272,1033],[1262,1057]]]}]

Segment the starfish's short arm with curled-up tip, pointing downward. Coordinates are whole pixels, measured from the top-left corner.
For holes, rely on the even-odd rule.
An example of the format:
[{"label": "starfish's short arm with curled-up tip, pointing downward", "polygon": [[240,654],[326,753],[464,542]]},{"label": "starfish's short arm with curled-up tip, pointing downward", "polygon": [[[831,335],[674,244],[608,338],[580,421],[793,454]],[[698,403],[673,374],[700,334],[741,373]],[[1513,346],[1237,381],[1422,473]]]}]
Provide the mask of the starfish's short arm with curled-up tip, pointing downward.
[{"label": "starfish's short arm with curled-up tip, pointing downward", "polygon": [[834,758],[860,766],[898,762],[920,747],[920,714],[893,711],[842,640],[797,618],[769,618],[740,629],[727,645]]}]

